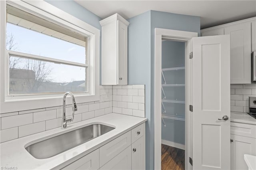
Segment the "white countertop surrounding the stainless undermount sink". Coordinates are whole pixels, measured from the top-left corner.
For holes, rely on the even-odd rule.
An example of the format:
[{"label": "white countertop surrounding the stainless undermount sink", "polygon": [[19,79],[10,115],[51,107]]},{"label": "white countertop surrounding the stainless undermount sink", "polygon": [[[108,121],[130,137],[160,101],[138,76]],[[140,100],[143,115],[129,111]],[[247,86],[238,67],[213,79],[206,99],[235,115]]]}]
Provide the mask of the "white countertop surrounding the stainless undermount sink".
[{"label": "white countertop surrounding the stainless undermount sink", "polygon": [[[60,169],[146,121],[146,118],[110,113],[108,115],[68,125],[67,129],[55,128],[37,134],[32,134],[30,136],[10,140],[8,142],[3,142],[0,144],[0,166],[17,166],[18,170]],[[25,145],[28,146],[28,143],[36,143],[49,138],[48,136],[56,136],[58,134],[63,134],[95,123],[102,123],[103,125],[115,127],[115,129],[47,159],[36,159],[24,148]]]}]

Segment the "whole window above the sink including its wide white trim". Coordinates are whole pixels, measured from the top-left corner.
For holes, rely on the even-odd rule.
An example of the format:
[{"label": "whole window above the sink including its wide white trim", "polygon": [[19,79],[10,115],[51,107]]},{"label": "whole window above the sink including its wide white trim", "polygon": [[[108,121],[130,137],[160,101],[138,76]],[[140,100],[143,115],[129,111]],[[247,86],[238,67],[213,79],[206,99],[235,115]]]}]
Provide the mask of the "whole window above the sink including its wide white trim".
[{"label": "whole window above the sink including its wide white trim", "polygon": [[0,16],[0,113],[99,100],[100,30],[45,1],[0,1]]}]

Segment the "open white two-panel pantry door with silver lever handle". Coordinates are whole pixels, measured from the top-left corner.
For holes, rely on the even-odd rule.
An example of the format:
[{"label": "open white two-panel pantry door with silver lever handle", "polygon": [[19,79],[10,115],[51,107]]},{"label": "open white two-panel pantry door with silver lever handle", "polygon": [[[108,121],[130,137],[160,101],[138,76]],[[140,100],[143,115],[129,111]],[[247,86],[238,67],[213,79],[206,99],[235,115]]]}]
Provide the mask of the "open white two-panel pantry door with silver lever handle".
[{"label": "open white two-panel pantry door with silver lever handle", "polygon": [[192,51],[193,169],[228,170],[230,36],[192,38]]}]

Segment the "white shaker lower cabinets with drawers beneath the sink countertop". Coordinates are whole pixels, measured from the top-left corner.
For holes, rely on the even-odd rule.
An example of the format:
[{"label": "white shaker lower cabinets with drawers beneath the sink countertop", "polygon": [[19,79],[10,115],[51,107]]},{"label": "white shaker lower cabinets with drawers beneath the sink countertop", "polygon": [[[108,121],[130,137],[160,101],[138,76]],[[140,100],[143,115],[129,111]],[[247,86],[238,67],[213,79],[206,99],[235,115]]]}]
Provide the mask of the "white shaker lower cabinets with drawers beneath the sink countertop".
[{"label": "white shaker lower cabinets with drawers beneath the sink countertop", "polygon": [[122,134],[64,170],[145,170],[145,123]]}]

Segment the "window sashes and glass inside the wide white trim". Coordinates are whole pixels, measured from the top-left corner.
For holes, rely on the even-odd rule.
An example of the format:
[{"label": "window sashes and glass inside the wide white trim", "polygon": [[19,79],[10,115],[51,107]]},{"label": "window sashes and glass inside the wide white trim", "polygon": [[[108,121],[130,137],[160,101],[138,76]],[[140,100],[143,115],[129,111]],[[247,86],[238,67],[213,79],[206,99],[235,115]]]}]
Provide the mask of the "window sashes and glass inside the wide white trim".
[{"label": "window sashes and glass inside the wide white trim", "polygon": [[87,40],[7,5],[8,95],[86,93]]}]

